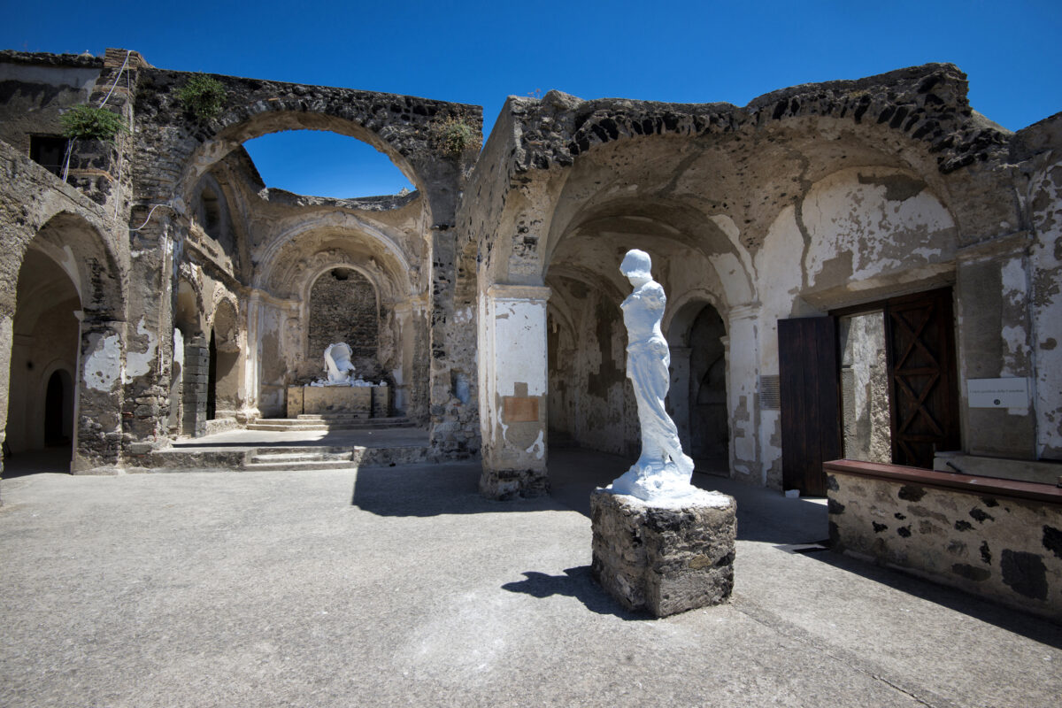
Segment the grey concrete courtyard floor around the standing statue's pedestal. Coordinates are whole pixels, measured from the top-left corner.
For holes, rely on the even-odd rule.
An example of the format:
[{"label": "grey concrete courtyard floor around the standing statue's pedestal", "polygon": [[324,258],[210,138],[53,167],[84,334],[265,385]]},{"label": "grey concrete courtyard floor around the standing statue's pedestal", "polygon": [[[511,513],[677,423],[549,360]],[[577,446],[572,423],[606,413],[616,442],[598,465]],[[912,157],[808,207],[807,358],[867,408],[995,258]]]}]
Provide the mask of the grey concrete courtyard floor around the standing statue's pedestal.
[{"label": "grey concrete courtyard floor around the standing statue's pedestal", "polygon": [[589,488],[477,464],[3,481],[0,706],[1059,705],[1062,627],[829,552],[738,498],[730,604],[651,620],[589,577]]}]

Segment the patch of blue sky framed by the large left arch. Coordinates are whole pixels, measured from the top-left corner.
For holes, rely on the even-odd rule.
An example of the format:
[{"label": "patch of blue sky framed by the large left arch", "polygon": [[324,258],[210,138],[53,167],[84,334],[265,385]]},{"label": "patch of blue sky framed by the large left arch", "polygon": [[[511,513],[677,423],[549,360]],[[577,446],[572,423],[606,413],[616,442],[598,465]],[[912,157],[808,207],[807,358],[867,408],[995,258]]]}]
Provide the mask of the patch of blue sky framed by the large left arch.
[{"label": "patch of blue sky framed by the large left arch", "polygon": [[267,187],[352,198],[416,189],[383,153],[326,131],[282,131],[243,143]]}]

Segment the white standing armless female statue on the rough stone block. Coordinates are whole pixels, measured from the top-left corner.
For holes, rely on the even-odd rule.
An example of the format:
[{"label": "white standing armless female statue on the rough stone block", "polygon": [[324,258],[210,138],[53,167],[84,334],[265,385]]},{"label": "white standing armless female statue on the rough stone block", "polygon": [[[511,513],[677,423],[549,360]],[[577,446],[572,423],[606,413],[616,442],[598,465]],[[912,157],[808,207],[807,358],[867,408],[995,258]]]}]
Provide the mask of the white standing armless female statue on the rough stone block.
[{"label": "white standing armless female statue on the rough stone block", "polygon": [[611,489],[644,501],[667,502],[703,493],[690,484],[693,461],[682,451],[679,430],[664,409],[671,363],[661,331],[667,297],[661,283],[653,280],[649,254],[637,248],[627,252],[619,266],[634,286],[620,307],[627,325],[627,378],[634,386],[641,424],[641,455]]}]

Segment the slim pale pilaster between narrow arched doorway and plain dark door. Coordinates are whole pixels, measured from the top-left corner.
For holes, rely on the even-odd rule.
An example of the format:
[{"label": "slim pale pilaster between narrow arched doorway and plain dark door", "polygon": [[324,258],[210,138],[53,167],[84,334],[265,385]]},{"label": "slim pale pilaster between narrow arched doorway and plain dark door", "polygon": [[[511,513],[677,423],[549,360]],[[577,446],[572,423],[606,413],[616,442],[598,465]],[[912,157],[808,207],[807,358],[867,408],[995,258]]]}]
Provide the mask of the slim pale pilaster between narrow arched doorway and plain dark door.
[{"label": "slim pale pilaster between narrow arched doorway and plain dark door", "polygon": [[[726,399],[730,421],[731,477],[766,484],[759,451],[759,405],[756,397],[759,303],[732,308],[726,336],[720,338],[726,360]],[[731,356],[732,351],[739,352]]]}]

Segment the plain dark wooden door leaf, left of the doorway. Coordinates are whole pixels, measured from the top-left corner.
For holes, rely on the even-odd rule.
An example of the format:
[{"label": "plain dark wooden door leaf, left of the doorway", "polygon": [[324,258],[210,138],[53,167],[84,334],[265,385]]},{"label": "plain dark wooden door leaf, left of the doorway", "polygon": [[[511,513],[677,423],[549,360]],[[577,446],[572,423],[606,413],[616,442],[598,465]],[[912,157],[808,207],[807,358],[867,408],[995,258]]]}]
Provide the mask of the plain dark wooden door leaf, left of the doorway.
[{"label": "plain dark wooden door leaf, left of the doorway", "polygon": [[822,463],[841,456],[836,323],[778,321],[782,482],[812,497],[826,495]]}]

